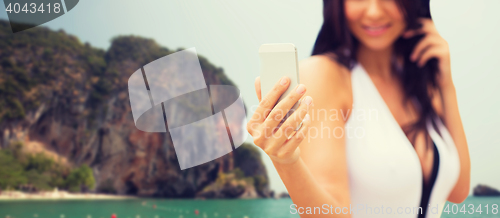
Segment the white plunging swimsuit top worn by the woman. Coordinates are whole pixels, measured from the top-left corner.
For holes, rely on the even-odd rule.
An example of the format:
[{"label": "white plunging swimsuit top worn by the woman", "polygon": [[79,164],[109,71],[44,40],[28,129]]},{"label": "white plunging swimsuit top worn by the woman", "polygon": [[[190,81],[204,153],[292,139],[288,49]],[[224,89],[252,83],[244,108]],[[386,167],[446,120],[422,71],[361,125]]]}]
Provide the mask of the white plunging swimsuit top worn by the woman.
[{"label": "white plunging swimsuit top worn by the woman", "polygon": [[[418,216],[422,167],[417,153],[360,64],[351,72],[353,108],[346,123],[346,155],[352,217]],[[439,166],[426,217],[439,217],[455,186],[460,162],[446,127],[435,120],[427,129],[439,154]]]}]

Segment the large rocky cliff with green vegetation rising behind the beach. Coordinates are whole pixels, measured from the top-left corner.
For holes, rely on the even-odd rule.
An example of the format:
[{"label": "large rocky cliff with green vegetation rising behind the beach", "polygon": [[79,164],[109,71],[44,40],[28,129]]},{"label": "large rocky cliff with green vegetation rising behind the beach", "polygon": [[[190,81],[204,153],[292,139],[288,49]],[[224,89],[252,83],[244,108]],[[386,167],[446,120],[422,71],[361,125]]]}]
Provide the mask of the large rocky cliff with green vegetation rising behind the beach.
[{"label": "large rocky cliff with green vegetation rising behind the beach", "polygon": [[[173,50],[151,39],[120,36],[105,51],[64,31],[13,34],[0,21],[0,147],[21,142],[70,166],[87,164],[96,192],[152,197],[269,196],[253,145],[181,171],[169,133],[138,130],[127,81]],[[199,56],[208,85],[233,85]],[[244,130],[243,130],[244,131]]]}]

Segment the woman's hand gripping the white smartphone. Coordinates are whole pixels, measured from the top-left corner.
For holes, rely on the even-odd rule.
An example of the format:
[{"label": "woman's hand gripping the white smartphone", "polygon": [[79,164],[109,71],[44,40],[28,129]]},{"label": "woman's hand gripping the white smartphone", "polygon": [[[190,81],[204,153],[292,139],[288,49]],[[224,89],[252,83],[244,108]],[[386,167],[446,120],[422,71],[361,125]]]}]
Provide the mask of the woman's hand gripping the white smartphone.
[{"label": "woman's hand gripping the white smartphone", "polygon": [[311,123],[307,112],[312,104],[312,98],[307,96],[301,101],[297,110],[279,126],[288,111],[306,92],[306,87],[300,84],[276,104],[289,85],[290,79],[283,77],[269,94],[261,99],[260,78],[257,77],[255,90],[260,103],[247,124],[247,130],[253,136],[254,143],[262,148],[273,162],[280,164],[295,163],[299,159],[298,146],[307,136]]}]

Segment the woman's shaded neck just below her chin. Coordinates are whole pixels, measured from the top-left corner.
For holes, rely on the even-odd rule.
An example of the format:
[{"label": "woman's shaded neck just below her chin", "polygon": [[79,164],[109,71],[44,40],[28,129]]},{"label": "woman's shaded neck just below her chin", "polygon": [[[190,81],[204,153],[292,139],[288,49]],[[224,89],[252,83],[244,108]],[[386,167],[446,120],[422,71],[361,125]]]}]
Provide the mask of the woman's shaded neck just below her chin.
[{"label": "woman's shaded neck just below her chin", "polygon": [[357,59],[367,73],[381,79],[391,79],[392,46],[383,50],[372,50],[360,45]]}]

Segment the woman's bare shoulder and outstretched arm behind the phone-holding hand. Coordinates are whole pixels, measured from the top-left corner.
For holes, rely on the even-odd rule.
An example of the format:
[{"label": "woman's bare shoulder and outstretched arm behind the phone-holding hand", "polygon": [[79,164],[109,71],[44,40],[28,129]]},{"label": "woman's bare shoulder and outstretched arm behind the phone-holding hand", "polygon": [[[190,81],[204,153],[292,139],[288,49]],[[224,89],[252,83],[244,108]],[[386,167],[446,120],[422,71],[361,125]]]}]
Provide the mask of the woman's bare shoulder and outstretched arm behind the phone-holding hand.
[{"label": "woman's bare shoulder and outstretched arm behind the phone-holding hand", "polygon": [[[304,130],[302,126],[294,136],[301,138],[296,149],[300,151],[300,156],[296,161],[281,161],[276,158],[278,155],[269,153],[273,149],[264,149],[271,156],[296,205],[291,206],[290,211],[302,213],[301,217],[350,217],[344,137],[340,134],[335,137],[332,134],[336,128],[344,129],[346,120],[341,113],[347,118],[352,105],[348,75],[349,72],[342,70],[327,57],[311,57],[302,61],[300,82],[307,87],[304,96],[312,97],[314,106],[309,108],[311,121],[306,134],[300,134],[300,131]],[[258,96],[259,87],[257,80]],[[336,115],[339,119],[332,116],[334,113],[338,113]],[[261,148],[267,146],[262,141],[257,141],[256,144]],[[287,147],[286,144],[279,146],[283,149]],[[344,214],[336,214],[336,207]]]}]

